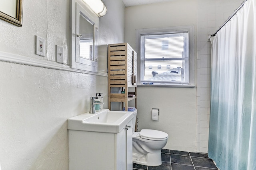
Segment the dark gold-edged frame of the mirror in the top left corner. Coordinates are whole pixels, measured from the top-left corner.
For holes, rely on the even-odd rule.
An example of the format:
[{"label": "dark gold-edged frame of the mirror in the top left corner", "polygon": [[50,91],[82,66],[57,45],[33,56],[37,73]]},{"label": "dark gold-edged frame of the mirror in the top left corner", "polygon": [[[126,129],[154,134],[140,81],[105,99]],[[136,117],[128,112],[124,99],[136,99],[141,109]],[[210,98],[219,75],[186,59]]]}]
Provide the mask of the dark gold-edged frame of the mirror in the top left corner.
[{"label": "dark gold-edged frame of the mirror in the top left corner", "polygon": [[0,19],[7,21],[9,23],[12,23],[18,27],[22,27],[22,8],[23,8],[23,0],[17,0],[16,18],[0,11]]}]

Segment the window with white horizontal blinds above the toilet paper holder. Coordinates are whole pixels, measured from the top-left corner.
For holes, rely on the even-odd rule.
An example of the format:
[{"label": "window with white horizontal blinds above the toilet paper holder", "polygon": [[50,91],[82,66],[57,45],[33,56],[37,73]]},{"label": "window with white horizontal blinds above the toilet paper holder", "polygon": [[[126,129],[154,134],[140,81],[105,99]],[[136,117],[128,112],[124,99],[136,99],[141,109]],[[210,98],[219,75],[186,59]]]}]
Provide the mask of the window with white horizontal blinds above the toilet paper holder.
[{"label": "window with white horizontal blinds above the toilet paper holder", "polygon": [[[140,84],[191,85],[194,57],[190,48],[192,26],[175,29],[138,29]],[[138,44],[138,43],[137,43]],[[192,46],[192,45],[191,45]],[[191,67],[191,68],[190,68]],[[191,75],[190,75],[191,69]]]}]

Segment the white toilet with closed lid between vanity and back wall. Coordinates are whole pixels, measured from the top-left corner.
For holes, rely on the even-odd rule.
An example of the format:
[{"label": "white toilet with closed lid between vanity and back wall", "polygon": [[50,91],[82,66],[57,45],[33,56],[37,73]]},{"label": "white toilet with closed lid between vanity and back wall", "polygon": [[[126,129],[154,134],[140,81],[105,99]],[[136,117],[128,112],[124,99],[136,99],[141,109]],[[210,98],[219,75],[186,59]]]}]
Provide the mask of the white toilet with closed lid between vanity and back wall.
[{"label": "white toilet with closed lid between vanity and back wall", "polygon": [[166,145],[168,134],[152,129],[135,131],[137,110],[134,111],[132,131],[132,162],[147,166],[162,164],[161,150]]}]

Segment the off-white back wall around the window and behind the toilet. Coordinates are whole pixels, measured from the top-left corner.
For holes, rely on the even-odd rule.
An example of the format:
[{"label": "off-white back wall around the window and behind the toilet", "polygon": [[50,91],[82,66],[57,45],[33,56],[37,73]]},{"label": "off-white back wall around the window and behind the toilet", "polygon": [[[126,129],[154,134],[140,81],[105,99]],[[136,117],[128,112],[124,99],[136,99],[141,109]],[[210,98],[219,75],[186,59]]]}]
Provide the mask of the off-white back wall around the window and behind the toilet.
[{"label": "off-white back wall around the window and behind the toilet", "polygon": [[[196,42],[197,5],[197,0],[173,0],[128,7],[125,41],[136,49],[135,29],[194,25]],[[196,44],[194,56],[196,68]],[[196,72],[192,74],[196,80]],[[168,133],[166,149],[196,151],[196,88],[139,86],[137,93],[139,130],[148,128]],[[151,120],[152,108],[160,109],[158,121]]]}]

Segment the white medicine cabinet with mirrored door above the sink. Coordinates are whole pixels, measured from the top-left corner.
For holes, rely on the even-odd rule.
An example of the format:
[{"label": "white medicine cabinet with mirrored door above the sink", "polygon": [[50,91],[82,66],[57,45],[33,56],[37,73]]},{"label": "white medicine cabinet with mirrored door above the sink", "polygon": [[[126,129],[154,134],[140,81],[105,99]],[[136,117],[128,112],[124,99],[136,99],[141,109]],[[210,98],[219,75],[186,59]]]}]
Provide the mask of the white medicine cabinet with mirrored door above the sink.
[{"label": "white medicine cabinet with mirrored door above the sink", "polygon": [[98,72],[98,25],[89,6],[72,0],[72,68]]}]

